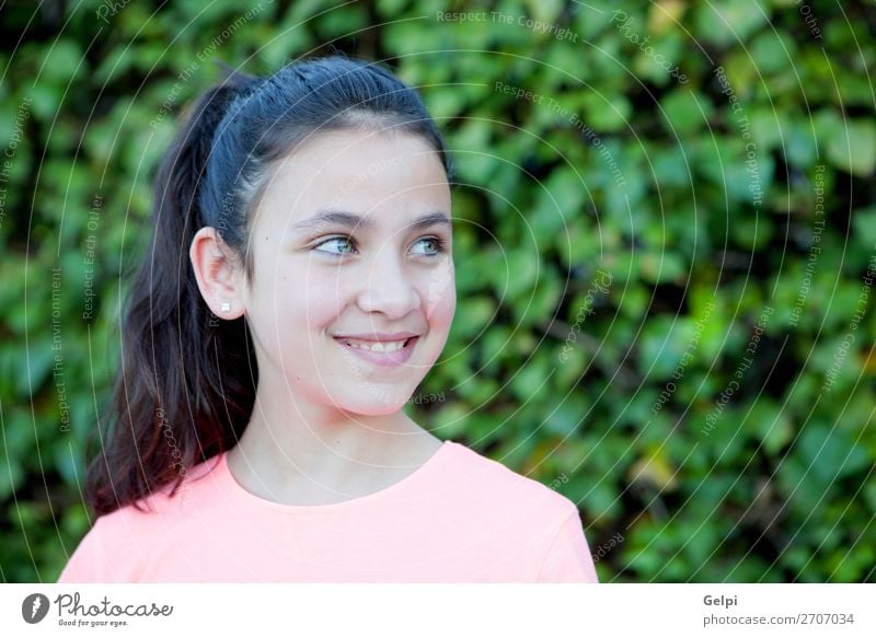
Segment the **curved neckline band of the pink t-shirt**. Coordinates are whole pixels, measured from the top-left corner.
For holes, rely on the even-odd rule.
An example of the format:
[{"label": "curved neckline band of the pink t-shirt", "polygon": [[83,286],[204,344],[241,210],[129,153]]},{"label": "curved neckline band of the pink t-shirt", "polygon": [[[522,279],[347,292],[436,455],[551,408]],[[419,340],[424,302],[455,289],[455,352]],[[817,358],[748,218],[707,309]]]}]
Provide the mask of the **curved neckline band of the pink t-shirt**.
[{"label": "curved neckline band of the pink t-shirt", "polygon": [[212,470],[218,474],[220,482],[222,483],[222,487],[227,489],[231,496],[239,500],[243,500],[250,505],[254,505],[256,507],[273,509],[275,511],[279,511],[283,513],[326,513],[326,512],[335,512],[335,511],[344,511],[356,509],[361,506],[371,505],[378,502],[388,496],[397,495],[400,491],[411,487],[414,483],[419,482],[426,476],[428,473],[433,472],[435,467],[441,463],[445,455],[447,455],[450,447],[456,444],[452,440],[445,440],[438,450],[429,456],[429,459],[424,462],[419,467],[417,467],[413,473],[406,475],[402,479],[396,483],[391,484],[388,487],[383,487],[377,491],[371,494],[367,494],[365,496],[359,496],[356,498],[350,498],[347,500],[342,500],[339,502],[332,502],[327,505],[285,505],[283,502],[275,502],[273,500],[266,500],[255,494],[247,491],[243,486],[238,483],[237,478],[234,478],[231,470],[228,466],[228,451],[223,452],[220,456],[218,465]]}]

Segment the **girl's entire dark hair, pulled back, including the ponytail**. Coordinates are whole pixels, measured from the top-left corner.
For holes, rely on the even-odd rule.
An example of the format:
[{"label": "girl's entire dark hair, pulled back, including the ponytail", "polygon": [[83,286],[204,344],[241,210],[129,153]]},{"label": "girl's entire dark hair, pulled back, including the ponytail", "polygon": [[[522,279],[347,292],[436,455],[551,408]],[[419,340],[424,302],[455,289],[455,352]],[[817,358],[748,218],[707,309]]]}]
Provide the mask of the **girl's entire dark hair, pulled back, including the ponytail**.
[{"label": "girl's entire dark hair, pulled back, including the ponytail", "polygon": [[155,177],[154,233],[125,308],[122,373],[85,479],[97,516],[171,483],[175,494],[189,467],[232,448],[249,424],[255,351],[245,319],[217,319],[200,296],[188,258],[200,228],[217,228],[252,278],[247,219],[272,167],[332,130],[419,136],[452,174],[417,92],[376,65],[332,56],[267,79],[227,74],[195,104]]}]

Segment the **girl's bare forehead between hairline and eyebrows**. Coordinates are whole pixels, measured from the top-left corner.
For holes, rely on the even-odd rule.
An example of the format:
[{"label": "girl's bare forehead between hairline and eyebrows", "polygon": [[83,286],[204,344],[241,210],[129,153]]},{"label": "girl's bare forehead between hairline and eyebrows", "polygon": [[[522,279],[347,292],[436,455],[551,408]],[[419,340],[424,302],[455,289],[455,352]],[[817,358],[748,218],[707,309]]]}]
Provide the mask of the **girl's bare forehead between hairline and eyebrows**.
[{"label": "girl's bare forehead between hairline and eyebrows", "polygon": [[333,131],[314,136],[278,162],[262,212],[287,222],[318,210],[407,218],[449,213],[450,189],[438,153],[419,136]]}]

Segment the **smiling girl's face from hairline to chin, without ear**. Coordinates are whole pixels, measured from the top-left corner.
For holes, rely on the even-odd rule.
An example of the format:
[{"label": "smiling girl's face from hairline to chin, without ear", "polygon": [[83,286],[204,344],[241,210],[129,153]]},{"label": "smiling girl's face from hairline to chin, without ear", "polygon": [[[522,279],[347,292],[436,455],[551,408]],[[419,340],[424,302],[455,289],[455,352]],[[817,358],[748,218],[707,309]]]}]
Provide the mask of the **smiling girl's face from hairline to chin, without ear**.
[{"label": "smiling girl's face from hairline to chin, without ear", "polygon": [[[260,378],[346,412],[397,412],[456,311],[450,188],[419,137],[314,137],[274,173],[244,308]],[[261,391],[262,381],[260,381]]]}]

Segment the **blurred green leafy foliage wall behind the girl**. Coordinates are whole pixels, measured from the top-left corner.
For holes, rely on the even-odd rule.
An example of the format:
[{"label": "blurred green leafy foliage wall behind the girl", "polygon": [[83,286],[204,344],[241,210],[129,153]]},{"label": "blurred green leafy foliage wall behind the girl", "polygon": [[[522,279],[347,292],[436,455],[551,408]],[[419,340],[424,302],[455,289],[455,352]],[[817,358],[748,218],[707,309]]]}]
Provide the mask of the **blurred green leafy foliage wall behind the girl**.
[{"label": "blurred green leafy foliage wall behind the girl", "polygon": [[89,528],[150,179],[211,60],[334,47],[419,86],[459,165],[418,421],[576,501],[602,581],[874,581],[872,3],[41,7],[0,11],[0,579]]}]

